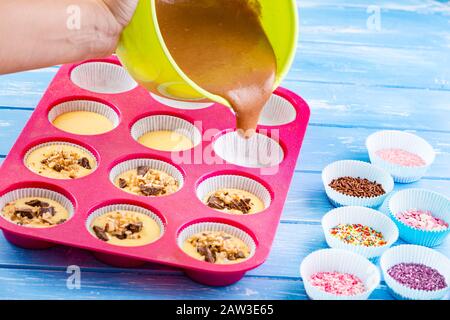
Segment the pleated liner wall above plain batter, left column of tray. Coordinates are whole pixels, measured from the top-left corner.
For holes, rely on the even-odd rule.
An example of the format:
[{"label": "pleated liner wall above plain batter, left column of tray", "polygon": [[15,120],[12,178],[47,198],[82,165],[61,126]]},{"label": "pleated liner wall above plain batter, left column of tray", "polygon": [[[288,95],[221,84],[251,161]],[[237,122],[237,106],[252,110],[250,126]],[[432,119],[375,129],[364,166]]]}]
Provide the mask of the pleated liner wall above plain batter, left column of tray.
[{"label": "pleated liner wall above plain batter, left column of tray", "polygon": [[119,125],[119,116],[111,107],[101,102],[92,100],[72,100],[60,103],[50,110],[48,113],[48,120],[50,123],[53,123],[53,121],[60,115],[74,111],[95,112],[111,121],[114,128]]}]

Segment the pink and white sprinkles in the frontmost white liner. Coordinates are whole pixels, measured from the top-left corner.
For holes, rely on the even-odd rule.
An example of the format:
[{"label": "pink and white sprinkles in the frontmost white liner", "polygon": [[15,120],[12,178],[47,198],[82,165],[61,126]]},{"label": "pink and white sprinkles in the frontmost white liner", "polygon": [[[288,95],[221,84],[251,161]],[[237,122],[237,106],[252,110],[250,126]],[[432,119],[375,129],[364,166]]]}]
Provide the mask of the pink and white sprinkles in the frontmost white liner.
[{"label": "pink and white sprinkles in the frontmost white liner", "polygon": [[362,280],[349,273],[317,272],[309,281],[314,287],[339,296],[354,296],[366,291]]}]

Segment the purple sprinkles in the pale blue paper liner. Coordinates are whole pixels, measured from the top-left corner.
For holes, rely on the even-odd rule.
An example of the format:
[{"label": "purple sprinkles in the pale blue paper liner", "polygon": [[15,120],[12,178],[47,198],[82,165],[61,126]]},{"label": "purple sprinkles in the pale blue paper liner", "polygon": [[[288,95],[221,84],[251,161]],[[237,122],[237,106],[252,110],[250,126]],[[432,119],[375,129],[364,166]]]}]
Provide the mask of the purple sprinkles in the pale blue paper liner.
[{"label": "purple sprinkles in the pale blue paper liner", "polygon": [[388,274],[411,289],[436,291],[447,287],[442,274],[421,263],[399,263],[389,268]]}]

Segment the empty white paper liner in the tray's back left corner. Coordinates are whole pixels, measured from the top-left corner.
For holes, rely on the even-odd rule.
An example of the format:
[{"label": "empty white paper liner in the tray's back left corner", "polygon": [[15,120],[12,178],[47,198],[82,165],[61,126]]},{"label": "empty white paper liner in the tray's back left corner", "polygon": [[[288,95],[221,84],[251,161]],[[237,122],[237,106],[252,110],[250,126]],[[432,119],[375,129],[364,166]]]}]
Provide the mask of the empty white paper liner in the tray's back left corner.
[{"label": "empty white paper liner in the tray's back left corner", "polygon": [[96,93],[123,93],[137,87],[121,66],[109,62],[85,62],[76,66],[70,80],[78,87]]}]

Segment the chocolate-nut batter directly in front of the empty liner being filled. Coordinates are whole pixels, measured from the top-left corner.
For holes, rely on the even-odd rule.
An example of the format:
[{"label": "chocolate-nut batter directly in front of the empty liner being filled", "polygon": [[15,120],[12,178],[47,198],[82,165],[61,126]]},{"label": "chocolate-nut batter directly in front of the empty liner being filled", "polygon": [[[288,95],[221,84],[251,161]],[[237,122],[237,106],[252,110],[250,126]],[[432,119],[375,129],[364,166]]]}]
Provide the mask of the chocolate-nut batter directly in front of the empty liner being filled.
[{"label": "chocolate-nut batter directly in front of the empty liner being filled", "polygon": [[264,210],[264,203],[254,194],[239,189],[221,189],[209,193],[204,203],[230,214],[254,214]]}]

